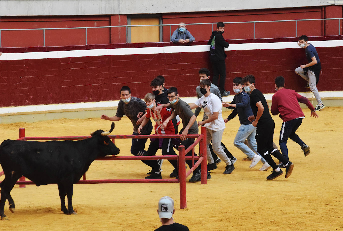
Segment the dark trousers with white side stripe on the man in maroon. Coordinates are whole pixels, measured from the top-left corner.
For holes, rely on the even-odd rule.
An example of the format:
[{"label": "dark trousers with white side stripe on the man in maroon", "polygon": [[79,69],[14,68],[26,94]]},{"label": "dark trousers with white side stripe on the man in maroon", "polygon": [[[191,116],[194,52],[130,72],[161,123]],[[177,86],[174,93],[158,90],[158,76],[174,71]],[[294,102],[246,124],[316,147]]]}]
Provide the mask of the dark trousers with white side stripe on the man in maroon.
[{"label": "dark trousers with white side stripe on the man in maroon", "polygon": [[295,131],[303,122],[303,119],[292,119],[282,123],[280,130],[280,150],[284,158],[288,160],[288,149],[287,149],[287,140],[288,137],[296,142],[300,147],[303,147],[304,142],[295,134]]}]

